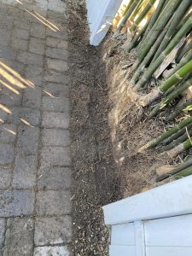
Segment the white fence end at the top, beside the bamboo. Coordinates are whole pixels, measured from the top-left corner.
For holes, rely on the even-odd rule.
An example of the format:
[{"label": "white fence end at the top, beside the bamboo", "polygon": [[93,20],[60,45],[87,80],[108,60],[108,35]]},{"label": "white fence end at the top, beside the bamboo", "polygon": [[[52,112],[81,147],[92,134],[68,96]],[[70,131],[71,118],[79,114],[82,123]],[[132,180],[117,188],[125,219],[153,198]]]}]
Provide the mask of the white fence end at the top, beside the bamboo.
[{"label": "white fence end at the top, beside the bamboo", "polygon": [[[123,0],[104,0],[101,2],[101,6],[96,5],[96,1],[98,0],[86,1],[90,24],[90,44],[95,46],[99,45],[106,36]],[[99,15],[96,15],[94,8],[100,9]]]}]

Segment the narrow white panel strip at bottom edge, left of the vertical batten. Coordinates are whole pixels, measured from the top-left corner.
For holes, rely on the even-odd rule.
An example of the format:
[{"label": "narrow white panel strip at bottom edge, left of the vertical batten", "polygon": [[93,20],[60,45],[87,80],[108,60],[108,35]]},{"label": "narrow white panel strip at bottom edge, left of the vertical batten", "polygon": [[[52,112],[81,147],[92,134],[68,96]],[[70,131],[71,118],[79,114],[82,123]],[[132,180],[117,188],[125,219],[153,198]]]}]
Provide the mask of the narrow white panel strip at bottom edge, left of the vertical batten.
[{"label": "narrow white panel strip at bottom edge, left of the vertical batten", "polygon": [[109,256],[137,256],[136,248],[134,246],[110,246]]}]

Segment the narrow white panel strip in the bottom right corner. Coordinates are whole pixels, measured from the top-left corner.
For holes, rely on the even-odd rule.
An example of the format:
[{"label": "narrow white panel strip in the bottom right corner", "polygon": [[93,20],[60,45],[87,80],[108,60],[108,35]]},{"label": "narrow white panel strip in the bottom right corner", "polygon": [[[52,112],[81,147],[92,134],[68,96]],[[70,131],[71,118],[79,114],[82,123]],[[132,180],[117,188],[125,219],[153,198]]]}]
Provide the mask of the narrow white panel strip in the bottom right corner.
[{"label": "narrow white panel strip in the bottom right corner", "polygon": [[192,247],[147,247],[146,252],[147,256],[191,256]]}]

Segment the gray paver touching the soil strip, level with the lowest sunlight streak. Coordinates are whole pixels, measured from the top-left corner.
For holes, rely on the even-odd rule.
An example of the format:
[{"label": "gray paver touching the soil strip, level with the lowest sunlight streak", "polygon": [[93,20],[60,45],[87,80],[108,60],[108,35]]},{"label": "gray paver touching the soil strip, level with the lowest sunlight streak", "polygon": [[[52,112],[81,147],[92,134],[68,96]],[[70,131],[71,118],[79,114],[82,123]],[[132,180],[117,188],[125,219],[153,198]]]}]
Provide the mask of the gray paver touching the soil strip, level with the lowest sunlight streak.
[{"label": "gray paver touching the soil strip, level with the lowest sunlight streak", "polygon": [[67,147],[70,144],[70,134],[67,130],[43,129],[41,139],[44,146]]}]

